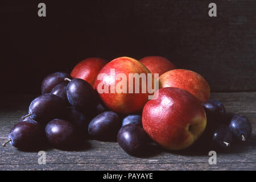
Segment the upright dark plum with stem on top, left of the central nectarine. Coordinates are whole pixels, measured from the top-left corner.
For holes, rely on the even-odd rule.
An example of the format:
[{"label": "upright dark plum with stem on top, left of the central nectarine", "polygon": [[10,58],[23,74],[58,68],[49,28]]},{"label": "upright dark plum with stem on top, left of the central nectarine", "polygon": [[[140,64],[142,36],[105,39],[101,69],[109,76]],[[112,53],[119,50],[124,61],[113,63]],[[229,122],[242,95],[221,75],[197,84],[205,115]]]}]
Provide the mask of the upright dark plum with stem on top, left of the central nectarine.
[{"label": "upright dark plum with stem on top, left of the central nectarine", "polygon": [[67,97],[69,104],[82,113],[95,113],[97,97],[92,86],[80,78],[75,78],[68,83]]}]

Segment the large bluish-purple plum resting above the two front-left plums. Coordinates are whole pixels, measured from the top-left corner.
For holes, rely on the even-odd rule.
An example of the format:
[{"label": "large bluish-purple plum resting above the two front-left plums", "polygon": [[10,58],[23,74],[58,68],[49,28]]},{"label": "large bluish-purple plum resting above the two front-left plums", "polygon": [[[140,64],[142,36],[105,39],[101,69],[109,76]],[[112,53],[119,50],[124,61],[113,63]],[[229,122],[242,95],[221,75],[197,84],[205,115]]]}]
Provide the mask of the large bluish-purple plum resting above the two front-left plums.
[{"label": "large bluish-purple plum resting above the two front-left plums", "polygon": [[55,118],[61,118],[64,111],[64,101],[55,94],[46,93],[35,98],[28,109],[31,118],[45,125]]}]

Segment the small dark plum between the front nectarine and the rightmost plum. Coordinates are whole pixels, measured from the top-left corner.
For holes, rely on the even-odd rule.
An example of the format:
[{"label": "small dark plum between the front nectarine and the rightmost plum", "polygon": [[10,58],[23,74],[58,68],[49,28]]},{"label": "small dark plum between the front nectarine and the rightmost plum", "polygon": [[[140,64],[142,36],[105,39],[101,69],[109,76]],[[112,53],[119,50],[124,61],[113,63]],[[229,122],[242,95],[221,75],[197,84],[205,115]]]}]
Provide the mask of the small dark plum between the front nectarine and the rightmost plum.
[{"label": "small dark plum between the front nectarine and the rightmost plum", "polygon": [[229,127],[226,125],[218,126],[213,133],[213,142],[218,147],[229,148],[232,144],[232,132]]}]

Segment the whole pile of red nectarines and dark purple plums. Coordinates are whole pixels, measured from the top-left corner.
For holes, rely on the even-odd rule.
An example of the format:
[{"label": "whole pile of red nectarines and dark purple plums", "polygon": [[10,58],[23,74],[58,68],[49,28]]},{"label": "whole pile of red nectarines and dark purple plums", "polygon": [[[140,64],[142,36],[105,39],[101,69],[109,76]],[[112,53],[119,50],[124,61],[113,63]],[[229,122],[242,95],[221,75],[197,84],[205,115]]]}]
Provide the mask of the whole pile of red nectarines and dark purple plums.
[{"label": "whole pile of red nectarines and dark purple plums", "polygon": [[[127,78],[131,73],[158,73],[159,78],[153,79],[159,83],[154,99],[148,100],[149,92],[135,92],[134,84],[120,86],[118,73]],[[137,86],[141,91],[147,84],[142,79]],[[111,85],[124,91],[129,87],[129,92],[112,92]],[[42,145],[65,150],[84,139],[117,140],[128,154],[138,155],[152,142],[168,150],[183,150],[203,138],[228,148],[251,135],[245,117],[228,115],[220,102],[209,100],[210,88],[201,75],[176,69],[160,56],[140,61],[118,57],[109,63],[97,57],[85,59],[71,75],[48,75],[41,91],[3,146],[10,142],[20,150]]]}]

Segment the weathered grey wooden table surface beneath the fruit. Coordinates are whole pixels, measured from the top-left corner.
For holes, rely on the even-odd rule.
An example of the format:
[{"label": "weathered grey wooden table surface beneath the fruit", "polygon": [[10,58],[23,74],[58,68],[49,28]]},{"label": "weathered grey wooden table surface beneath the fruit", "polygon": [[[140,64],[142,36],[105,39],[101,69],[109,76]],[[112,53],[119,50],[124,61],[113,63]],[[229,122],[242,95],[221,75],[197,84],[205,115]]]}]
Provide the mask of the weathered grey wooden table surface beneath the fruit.
[{"label": "weathered grey wooden table surface beneath the fruit", "polygon": [[[0,111],[0,142],[35,96],[3,95]],[[221,101],[228,112],[245,115],[256,138],[256,92],[212,93],[211,98]],[[127,155],[117,143],[88,140],[78,151],[46,150],[46,164],[38,164],[37,152],[23,152],[7,144],[0,147],[0,170],[255,170],[256,141],[251,139],[229,152],[217,152],[217,164],[210,165],[209,151],[168,152],[155,147],[140,158]],[[200,149],[199,149],[200,151]]]}]

